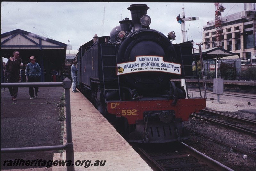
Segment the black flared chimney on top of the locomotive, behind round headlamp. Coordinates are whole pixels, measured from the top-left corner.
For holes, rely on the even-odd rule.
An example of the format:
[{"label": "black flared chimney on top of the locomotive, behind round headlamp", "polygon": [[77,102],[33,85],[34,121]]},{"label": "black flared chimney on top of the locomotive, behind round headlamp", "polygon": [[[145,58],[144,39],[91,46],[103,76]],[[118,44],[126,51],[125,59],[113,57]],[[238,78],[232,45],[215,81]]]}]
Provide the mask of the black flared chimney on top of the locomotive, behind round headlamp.
[{"label": "black flared chimney on top of the locomotive, behind round headlamp", "polygon": [[147,14],[149,7],[146,4],[132,4],[127,8],[131,11],[133,28],[131,32],[142,28],[140,17]]}]

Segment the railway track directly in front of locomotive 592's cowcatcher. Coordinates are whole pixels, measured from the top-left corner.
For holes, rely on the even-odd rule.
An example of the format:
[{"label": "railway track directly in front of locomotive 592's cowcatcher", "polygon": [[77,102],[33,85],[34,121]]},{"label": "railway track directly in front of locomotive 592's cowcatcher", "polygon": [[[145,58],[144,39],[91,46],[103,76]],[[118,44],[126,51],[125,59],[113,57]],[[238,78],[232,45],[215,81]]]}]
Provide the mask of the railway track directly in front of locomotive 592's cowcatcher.
[{"label": "railway track directly in front of locomotive 592's cowcatcher", "polygon": [[[170,146],[172,143],[168,143]],[[233,171],[231,168],[221,164],[220,162],[208,157],[207,155],[197,151],[185,143],[180,143],[178,148],[175,148],[176,153],[172,153],[170,149],[161,152],[161,155],[156,154],[151,156],[143,147],[137,144],[131,144],[134,150],[148,163],[155,171],[166,170],[218,170],[218,171]],[[166,148],[163,145],[163,149]],[[158,147],[156,147],[158,148]],[[192,159],[193,158],[193,159]]]}]

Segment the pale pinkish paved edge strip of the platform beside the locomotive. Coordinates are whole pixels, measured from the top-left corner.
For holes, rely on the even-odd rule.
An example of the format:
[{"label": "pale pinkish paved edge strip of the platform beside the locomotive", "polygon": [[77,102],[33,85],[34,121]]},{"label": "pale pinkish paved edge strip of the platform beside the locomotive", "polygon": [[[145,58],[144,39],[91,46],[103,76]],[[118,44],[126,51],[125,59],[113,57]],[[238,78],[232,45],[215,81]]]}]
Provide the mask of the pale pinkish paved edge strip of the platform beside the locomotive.
[{"label": "pale pinkish paved edge strip of the platform beside the locomotive", "polygon": [[[72,142],[74,161],[86,160],[89,167],[75,166],[76,171],[151,171],[152,169],[125,141],[116,129],[80,93],[70,89]],[[65,128],[66,129],[66,128]],[[65,130],[64,129],[64,130]],[[65,137],[65,135],[64,135]],[[65,138],[64,138],[64,143]],[[66,160],[66,154],[54,158]],[[96,161],[105,161],[104,166],[94,166]],[[52,167],[52,171],[66,170]]]}]

